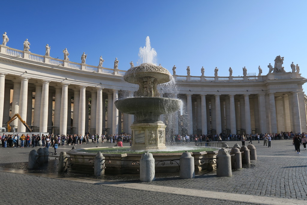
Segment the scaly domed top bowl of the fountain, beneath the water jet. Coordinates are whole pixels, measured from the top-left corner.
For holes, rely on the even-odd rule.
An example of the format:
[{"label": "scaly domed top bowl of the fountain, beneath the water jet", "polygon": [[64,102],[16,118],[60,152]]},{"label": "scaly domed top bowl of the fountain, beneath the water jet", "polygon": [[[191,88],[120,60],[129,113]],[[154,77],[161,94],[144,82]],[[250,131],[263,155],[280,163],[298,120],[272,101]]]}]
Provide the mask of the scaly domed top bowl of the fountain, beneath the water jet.
[{"label": "scaly domed top bowl of the fountain, beneath the water jet", "polygon": [[157,84],[166,83],[171,80],[171,74],[167,69],[152,63],[142,63],[127,70],[124,75],[124,81],[139,84],[139,79],[147,76],[156,78]]}]

